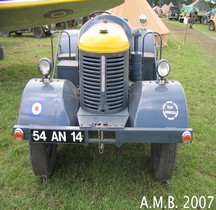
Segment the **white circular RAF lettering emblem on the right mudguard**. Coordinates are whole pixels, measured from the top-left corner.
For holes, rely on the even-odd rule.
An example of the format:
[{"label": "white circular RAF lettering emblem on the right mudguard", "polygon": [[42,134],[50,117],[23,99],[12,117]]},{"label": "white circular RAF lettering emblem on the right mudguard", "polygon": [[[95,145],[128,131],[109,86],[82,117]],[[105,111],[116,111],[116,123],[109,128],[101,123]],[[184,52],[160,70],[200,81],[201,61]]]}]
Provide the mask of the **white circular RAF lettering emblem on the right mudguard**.
[{"label": "white circular RAF lettering emblem on the right mudguard", "polygon": [[175,120],[178,117],[178,106],[172,101],[167,101],[163,105],[163,115],[168,120]]}]

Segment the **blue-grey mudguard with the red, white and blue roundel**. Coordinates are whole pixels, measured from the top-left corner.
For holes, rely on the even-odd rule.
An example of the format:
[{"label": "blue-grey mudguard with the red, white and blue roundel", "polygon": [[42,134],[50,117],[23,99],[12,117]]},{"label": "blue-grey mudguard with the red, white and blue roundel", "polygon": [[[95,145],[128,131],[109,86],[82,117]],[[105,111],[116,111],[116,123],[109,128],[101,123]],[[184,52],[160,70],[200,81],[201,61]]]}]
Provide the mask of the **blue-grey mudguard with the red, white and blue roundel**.
[{"label": "blue-grey mudguard with the red, white and blue roundel", "polygon": [[79,108],[75,86],[68,80],[30,80],[22,95],[20,125],[76,125]]}]

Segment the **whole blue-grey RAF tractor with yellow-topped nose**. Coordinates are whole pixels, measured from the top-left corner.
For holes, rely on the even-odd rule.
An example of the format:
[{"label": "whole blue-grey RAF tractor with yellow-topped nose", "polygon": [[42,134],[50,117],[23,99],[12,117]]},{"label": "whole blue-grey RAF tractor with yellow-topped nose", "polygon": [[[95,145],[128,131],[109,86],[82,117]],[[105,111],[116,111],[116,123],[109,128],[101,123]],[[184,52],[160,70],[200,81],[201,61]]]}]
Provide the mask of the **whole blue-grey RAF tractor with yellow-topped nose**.
[{"label": "whole blue-grey RAF tractor with yellow-topped nose", "polygon": [[58,144],[94,143],[103,153],[106,144],[150,143],[156,178],[169,179],[178,144],[193,131],[182,85],[166,79],[161,36],[103,12],[55,33],[58,49],[53,34],[52,62],[39,61],[42,76],[27,83],[13,127],[16,140],[29,142],[35,175],[52,175]]}]

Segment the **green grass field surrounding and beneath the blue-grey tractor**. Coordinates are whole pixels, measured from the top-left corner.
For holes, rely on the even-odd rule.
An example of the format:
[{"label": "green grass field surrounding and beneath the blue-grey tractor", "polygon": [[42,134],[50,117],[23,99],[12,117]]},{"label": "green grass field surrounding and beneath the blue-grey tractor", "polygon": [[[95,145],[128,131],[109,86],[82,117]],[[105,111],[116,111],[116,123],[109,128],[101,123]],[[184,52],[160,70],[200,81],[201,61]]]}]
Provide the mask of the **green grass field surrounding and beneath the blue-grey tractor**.
[{"label": "green grass field surrounding and beneath the blue-grey tractor", "polygon": [[[172,196],[178,208],[170,209],[208,209],[211,204],[210,209],[215,210],[216,59],[192,42],[176,44],[180,40],[182,37],[172,33],[163,57],[171,63],[168,79],[179,80],[185,89],[194,140],[180,145],[173,177],[161,183],[150,169],[150,146],[140,144],[124,145],[119,150],[106,146],[102,156],[97,145],[59,146],[51,179],[35,177],[28,143],[14,142],[12,127],[17,123],[25,84],[40,77],[39,58],[50,57],[50,39],[0,37],[5,56],[0,61],[0,210],[131,210],[140,209],[143,198],[150,206],[154,196],[163,196],[165,204]],[[195,196],[200,201],[197,208]]]}]

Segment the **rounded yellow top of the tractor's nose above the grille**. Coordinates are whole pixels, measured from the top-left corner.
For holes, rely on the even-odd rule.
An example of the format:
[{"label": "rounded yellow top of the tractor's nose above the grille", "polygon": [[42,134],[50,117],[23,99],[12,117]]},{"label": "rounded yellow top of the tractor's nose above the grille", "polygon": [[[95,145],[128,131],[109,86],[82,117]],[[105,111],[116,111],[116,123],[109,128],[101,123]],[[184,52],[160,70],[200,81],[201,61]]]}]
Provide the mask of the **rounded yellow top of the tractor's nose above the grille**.
[{"label": "rounded yellow top of the tractor's nose above the grille", "polygon": [[118,53],[129,49],[129,41],[120,25],[104,21],[81,36],[79,49],[91,53]]}]

